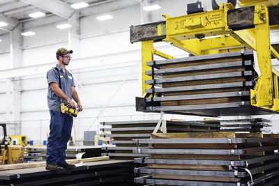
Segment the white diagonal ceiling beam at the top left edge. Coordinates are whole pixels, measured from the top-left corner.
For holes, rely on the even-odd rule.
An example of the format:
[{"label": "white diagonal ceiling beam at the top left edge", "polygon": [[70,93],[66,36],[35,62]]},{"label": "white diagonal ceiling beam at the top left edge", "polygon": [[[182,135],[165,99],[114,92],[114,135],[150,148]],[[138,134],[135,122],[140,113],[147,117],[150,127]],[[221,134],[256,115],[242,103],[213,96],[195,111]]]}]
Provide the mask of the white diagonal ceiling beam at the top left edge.
[{"label": "white diagonal ceiling beam at the top left edge", "polygon": [[65,19],[68,19],[73,15],[73,13],[75,13],[75,10],[73,8],[70,8],[70,6],[67,3],[64,3],[59,0],[48,0],[48,1],[20,0],[20,1],[24,3],[29,3],[43,10],[47,10],[50,13],[54,13],[55,15],[59,15],[60,17],[63,17]]}]

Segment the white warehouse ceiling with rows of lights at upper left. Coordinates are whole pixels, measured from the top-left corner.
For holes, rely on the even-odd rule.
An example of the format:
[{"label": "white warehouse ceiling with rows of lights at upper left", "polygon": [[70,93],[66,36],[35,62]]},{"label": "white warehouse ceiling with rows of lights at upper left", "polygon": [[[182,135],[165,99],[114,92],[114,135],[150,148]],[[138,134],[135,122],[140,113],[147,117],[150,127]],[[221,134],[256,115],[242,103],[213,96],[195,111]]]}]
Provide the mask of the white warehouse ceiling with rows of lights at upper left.
[{"label": "white warehouse ceiling with rows of lights at upper left", "polygon": [[[78,3],[81,1],[88,3],[89,6],[77,10],[71,7],[73,3]],[[32,22],[33,20],[42,19],[41,17],[29,17],[30,13],[45,13],[44,17],[54,17],[52,18],[53,22],[57,22],[57,19],[61,19],[61,17],[67,20],[69,17],[73,15],[73,13],[75,13],[75,11],[80,11],[80,16],[84,16],[96,13],[96,11],[94,11],[93,9],[97,8],[98,6],[107,5],[121,8],[125,7],[124,3],[126,3],[126,6],[131,6],[133,4],[140,3],[138,0],[130,1],[133,2],[133,4],[127,2],[128,1],[123,0],[1,0],[0,22],[6,22],[8,23],[8,25],[0,27],[0,35],[12,31],[15,28],[15,26],[22,22]],[[101,10],[105,11],[106,9],[110,10],[113,8],[99,8],[97,13],[100,13]]]}]

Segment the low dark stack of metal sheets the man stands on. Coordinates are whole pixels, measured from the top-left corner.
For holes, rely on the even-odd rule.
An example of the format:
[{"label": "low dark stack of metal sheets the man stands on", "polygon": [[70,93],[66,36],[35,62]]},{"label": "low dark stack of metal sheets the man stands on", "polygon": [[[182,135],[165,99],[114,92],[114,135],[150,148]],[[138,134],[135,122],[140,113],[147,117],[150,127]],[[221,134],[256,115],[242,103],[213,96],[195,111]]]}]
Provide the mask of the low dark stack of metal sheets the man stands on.
[{"label": "low dark stack of metal sheets the man stands on", "polygon": [[48,171],[45,166],[0,171],[1,185],[135,185],[129,160],[86,162],[75,169]]}]

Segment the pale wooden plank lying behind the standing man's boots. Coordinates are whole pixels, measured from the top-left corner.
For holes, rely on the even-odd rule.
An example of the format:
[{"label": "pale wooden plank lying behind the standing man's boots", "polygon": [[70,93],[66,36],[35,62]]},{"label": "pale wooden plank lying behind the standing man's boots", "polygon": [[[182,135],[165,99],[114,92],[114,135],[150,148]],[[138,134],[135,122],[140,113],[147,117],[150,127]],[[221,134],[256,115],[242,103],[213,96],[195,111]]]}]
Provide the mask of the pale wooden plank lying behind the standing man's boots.
[{"label": "pale wooden plank lying behind the standing man's boots", "polygon": [[[90,158],[84,158],[80,160],[66,160],[69,164],[77,164],[80,162],[96,162],[101,160],[109,160],[110,157],[108,156],[101,156],[101,157],[90,157]],[[45,162],[29,162],[29,163],[23,163],[23,164],[5,164],[0,165],[0,170],[12,170],[12,169],[28,169],[31,167],[40,167],[40,166],[46,166]]]}]

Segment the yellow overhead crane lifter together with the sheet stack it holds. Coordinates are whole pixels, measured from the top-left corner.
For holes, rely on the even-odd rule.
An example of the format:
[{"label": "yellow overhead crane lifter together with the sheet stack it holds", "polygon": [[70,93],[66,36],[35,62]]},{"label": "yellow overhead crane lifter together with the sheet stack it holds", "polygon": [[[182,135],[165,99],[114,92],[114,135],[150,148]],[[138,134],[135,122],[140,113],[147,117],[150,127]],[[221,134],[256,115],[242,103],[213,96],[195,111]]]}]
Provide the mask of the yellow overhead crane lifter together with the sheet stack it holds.
[{"label": "yellow overhead crane lifter together with the sheet stack it holds", "polygon": [[[136,98],[137,111],[278,114],[279,72],[271,68],[271,55],[279,59],[279,53],[269,34],[279,29],[279,6],[274,6],[276,1],[240,2],[247,7],[225,3],[218,10],[163,15],[163,22],[130,26],[130,42],[142,42],[142,98]],[[190,57],[175,59],[153,47],[162,41]],[[154,55],[165,60],[154,61]]]}]

